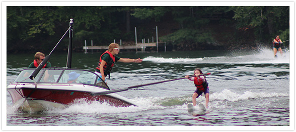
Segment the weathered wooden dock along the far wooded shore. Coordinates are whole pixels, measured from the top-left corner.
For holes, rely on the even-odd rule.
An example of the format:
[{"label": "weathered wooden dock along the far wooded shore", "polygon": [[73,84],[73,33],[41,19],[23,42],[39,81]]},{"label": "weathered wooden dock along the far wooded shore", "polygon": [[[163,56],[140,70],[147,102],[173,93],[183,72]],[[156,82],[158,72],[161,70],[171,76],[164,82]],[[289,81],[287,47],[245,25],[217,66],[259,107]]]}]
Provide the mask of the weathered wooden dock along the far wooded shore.
[{"label": "weathered wooden dock along the far wooded shore", "polygon": [[[158,45],[164,45],[164,42],[158,43]],[[157,43],[137,43],[135,45],[121,45],[120,49],[141,49],[141,51],[145,51],[145,47],[157,47]],[[108,49],[108,46],[83,46],[83,49]]]}]

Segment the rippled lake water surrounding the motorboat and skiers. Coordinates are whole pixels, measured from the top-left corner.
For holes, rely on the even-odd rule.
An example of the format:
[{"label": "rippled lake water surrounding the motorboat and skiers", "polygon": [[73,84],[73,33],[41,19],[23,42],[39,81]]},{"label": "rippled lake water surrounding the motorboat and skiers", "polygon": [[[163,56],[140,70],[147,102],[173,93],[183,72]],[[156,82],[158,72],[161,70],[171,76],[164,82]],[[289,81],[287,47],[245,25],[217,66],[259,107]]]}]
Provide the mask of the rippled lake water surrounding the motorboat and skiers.
[{"label": "rippled lake water surrounding the motorboat and skiers", "polygon": [[[101,54],[102,52],[73,53],[72,68],[94,71]],[[14,81],[22,69],[28,67],[33,56],[7,55],[7,85]],[[15,126],[44,126],[46,129],[65,126],[66,129],[75,130],[293,129],[293,118],[290,119],[290,114],[293,113],[293,109],[290,111],[290,107],[293,108],[290,102],[293,93],[290,95],[290,88],[293,86],[290,86],[289,51],[284,51],[283,56],[278,55],[278,58],[273,57],[272,49],[266,48],[233,52],[120,52],[118,56],[140,57],[143,61],[116,62],[111,79],[107,80],[111,89],[182,78],[193,75],[195,68],[201,68],[203,73],[211,73],[207,76],[210,101],[205,115],[194,116],[192,112],[188,112],[186,104],[192,102],[195,87],[193,82],[183,79],[117,93],[137,102],[141,105],[139,107],[112,107],[99,102],[81,102],[62,110],[20,113],[13,106],[10,94],[6,92],[5,125],[10,129],[22,128]],[[53,67],[65,67],[66,53],[53,52],[49,61]],[[197,98],[197,103],[205,103],[204,95]]]}]

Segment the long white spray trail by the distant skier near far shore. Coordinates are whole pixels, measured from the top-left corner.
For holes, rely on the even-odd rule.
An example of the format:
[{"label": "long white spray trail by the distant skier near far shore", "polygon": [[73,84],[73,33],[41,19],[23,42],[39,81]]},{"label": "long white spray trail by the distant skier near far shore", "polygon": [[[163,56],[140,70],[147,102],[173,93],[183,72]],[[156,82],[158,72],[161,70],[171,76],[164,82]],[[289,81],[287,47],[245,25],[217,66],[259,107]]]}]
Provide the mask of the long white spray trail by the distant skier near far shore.
[{"label": "long white spray trail by the distant skier near far shore", "polygon": [[154,63],[289,63],[289,51],[284,51],[282,55],[273,57],[273,50],[261,48],[252,52],[232,52],[225,56],[198,57],[198,58],[164,58],[164,57],[145,57],[143,61]]}]

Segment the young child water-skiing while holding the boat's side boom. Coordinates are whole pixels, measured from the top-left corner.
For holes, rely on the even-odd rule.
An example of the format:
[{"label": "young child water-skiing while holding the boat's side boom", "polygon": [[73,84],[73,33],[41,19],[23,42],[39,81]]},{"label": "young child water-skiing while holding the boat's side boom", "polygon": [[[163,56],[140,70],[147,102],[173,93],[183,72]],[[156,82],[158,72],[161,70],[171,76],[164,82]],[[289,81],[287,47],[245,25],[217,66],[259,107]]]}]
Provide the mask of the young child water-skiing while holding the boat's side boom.
[{"label": "young child water-skiing while holding the boat's side boom", "polygon": [[185,76],[185,78],[189,79],[190,81],[194,81],[194,84],[196,86],[196,90],[194,91],[194,93],[192,95],[193,106],[196,105],[196,98],[198,98],[202,93],[204,93],[205,107],[208,107],[209,87],[208,87],[208,83],[205,79],[205,76],[199,76],[200,74],[202,74],[202,71],[197,68],[194,70],[195,77],[189,78],[189,76]]}]

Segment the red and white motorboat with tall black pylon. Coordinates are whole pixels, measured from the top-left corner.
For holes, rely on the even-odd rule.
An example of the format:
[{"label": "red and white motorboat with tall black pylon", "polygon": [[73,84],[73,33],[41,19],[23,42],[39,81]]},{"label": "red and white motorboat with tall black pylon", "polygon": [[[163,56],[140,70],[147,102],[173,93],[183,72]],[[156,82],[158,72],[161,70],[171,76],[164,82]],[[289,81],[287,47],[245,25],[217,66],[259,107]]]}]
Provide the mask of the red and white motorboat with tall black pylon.
[{"label": "red and white motorboat with tall black pylon", "polygon": [[70,26],[66,31],[69,32],[66,67],[42,69],[59,41],[36,69],[22,70],[16,80],[7,86],[13,104],[25,112],[67,108],[79,100],[105,102],[116,107],[138,106],[134,101],[115,94],[128,88],[110,90],[96,73],[71,69],[72,25],[73,20],[70,19]]}]

